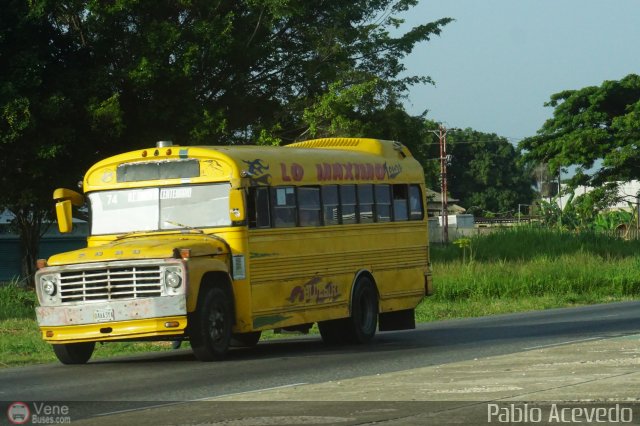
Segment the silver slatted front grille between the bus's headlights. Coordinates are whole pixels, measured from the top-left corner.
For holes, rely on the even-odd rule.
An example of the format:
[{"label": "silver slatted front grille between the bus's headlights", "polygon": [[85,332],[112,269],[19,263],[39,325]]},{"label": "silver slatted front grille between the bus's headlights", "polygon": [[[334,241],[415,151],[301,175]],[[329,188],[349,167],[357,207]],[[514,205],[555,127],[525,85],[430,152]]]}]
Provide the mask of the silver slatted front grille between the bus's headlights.
[{"label": "silver slatted front grille between the bus's headlights", "polygon": [[107,267],[60,274],[62,303],[136,299],[161,294],[159,266]]}]

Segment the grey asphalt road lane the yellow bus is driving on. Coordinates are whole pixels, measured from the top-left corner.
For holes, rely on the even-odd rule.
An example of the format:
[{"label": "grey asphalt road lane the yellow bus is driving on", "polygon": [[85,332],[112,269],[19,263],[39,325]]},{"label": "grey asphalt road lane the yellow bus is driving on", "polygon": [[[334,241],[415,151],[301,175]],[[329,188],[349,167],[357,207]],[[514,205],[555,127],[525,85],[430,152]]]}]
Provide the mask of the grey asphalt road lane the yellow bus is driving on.
[{"label": "grey asphalt road lane the yellow bus is driving on", "polygon": [[[329,348],[319,336],[261,342],[200,363],[190,350],[0,370],[0,401],[78,405],[81,417],[172,401],[444,365],[640,332],[640,302],[440,321],[380,333],[367,346]],[[94,401],[86,403],[83,401]],[[3,419],[4,420],[4,419]]]}]

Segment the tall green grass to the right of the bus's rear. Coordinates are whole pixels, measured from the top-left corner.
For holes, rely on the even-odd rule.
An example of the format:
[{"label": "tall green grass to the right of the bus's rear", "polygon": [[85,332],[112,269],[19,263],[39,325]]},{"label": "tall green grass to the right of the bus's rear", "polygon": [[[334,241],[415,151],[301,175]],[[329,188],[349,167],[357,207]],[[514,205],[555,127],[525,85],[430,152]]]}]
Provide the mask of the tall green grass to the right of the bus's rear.
[{"label": "tall green grass to the right of the bus's rear", "polygon": [[640,297],[640,241],[521,227],[432,246],[435,294],[418,321]]}]

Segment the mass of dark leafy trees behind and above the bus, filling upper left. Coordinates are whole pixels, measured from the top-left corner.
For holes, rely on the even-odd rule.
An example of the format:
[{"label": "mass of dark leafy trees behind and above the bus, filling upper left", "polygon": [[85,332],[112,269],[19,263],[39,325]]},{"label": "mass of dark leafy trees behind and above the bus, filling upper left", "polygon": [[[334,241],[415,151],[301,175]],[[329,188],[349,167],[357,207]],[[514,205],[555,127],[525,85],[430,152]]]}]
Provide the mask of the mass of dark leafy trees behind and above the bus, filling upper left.
[{"label": "mass of dark leafy trees behind and above the bus, filling upper left", "polygon": [[450,22],[392,36],[416,3],[4,0],[0,206],[17,216],[25,275],[51,191],[100,158],[161,139],[293,141],[332,91],[355,94],[345,116],[397,106],[429,81],[402,77],[402,59]]}]

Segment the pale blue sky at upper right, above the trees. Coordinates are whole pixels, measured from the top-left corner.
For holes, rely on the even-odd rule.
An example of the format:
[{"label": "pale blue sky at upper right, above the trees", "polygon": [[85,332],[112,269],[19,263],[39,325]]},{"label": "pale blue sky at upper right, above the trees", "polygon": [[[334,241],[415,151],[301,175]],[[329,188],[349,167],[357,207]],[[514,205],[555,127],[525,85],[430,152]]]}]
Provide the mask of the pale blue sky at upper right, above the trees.
[{"label": "pale blue sky at upper right, above the trees", "polygon": [[550,96],[640,74],[640,0],[420,0],[401,29],[455,19],[404,63],[407,111],[517,143],[553,114]]}]

